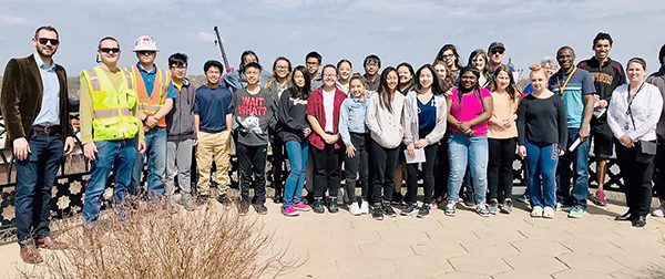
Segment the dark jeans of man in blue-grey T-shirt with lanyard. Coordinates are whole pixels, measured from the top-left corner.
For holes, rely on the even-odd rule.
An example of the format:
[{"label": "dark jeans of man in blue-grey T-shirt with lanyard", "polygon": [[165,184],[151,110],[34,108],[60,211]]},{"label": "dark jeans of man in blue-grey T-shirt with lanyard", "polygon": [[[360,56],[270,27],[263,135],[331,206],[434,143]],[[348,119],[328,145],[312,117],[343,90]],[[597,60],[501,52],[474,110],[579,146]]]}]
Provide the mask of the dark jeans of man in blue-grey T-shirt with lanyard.
[{"label": "dark jeans of man in blue-grey T-shirt with lanyard", "polygon": [[[579,128],[569,128],[567,146],[577,140]],[[589,138],[581,143],[573,152],[569,152],[559,159],[556,169],[556,185],[566,206],[580,207],[586,210],[586,196],[589,195]],[[573,190],[571,193],[571,163],[575,170],[573,175]]]}]

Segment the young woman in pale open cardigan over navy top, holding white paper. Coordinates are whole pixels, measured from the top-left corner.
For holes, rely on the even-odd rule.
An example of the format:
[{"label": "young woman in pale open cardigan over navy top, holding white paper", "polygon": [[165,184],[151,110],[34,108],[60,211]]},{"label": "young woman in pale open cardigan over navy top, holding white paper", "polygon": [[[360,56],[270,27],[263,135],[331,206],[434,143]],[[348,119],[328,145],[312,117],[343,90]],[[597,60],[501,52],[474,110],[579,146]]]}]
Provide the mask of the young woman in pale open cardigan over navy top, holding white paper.
[{"label": "young woman in pale open cardigan over navy top, holding white paper", "polygon": [[[430,64],[424,64],[416,72],[416,86],[407,94],[407,105],[410,106],[410,123],[406,125],[405,144],[407,156],[415,158],[416,148],[422,148],[424,162],[422,163],[423,197],[422,206],[417,217],[424,218],[430,215],[432,194],[434,192],[434,163],[439,141],[443,138],[447,122],[446,92],[450,84],[439,79],[437,71]],[[409,204],[400,215],[409,216],[418,209],[416,195],[418,194],[418,163],[407,165]]]}]

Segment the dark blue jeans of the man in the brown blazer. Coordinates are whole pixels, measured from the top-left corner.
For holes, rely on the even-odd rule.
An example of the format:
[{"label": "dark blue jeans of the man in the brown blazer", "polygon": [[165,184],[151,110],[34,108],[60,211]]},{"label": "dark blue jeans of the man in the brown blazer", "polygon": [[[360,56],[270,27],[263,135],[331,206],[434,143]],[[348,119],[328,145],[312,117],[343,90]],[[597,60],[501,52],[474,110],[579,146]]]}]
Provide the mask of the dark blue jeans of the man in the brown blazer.
[{"label": "dark blue jeans of the man in the brown blazer", "polygon": [[28,144],[28,158],[17,161],[16,224],[21,247],[51,232],[51,189],[64,147],[60,133],[37,131],[30,134]]}]

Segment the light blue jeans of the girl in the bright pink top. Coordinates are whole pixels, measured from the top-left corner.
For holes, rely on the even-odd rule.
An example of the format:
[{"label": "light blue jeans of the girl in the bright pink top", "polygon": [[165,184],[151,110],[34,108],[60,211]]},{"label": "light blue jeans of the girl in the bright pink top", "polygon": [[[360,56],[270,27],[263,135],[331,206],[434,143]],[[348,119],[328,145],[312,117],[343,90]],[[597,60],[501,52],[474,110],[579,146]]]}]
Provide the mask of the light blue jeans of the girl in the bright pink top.
[{"label": "light blue jeans of the girl in the bright pink top", "polygon": [[475,204],[484,203],[488,190],[488,136],[468,137],[461,133],[450,132],[448,157],[450,159],[448,202],[457,203],[460,198],[462,179],[464,179],[467,164],[469,164],[473,178]]}]

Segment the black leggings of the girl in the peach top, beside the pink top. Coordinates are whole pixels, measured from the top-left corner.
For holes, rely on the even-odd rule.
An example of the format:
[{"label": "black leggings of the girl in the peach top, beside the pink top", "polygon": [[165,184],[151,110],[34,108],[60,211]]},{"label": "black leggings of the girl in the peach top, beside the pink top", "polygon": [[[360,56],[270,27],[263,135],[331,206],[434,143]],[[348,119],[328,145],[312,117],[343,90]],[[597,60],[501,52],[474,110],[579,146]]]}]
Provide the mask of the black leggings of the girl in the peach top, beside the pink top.
[{"label": "black leggings of the girl in the peach top, beside the pink top", "polygon": [[515,138],[488,138],[488,186],[490,199],[512,198],[512,163],[515,158]]}]

